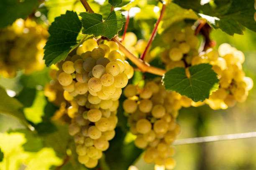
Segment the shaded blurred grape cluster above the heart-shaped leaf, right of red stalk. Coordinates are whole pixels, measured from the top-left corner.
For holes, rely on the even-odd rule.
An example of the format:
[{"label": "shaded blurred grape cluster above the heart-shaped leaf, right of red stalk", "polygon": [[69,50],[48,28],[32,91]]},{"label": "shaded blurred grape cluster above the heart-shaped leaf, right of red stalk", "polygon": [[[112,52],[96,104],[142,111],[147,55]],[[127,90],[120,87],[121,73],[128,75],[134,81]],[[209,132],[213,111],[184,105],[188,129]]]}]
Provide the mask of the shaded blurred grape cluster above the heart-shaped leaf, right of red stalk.
[{"label": "shaded blurred grape cluster above the heart-shaped leaf, right of red stalk", "polygon": [[162,35],[162,40],[169,48],[161,52],[161,60],[166,65],[166,70],[174,67],[186,67],[194,56],[198,55],[198,38],[191,26],[184,29],[173,27]]}]

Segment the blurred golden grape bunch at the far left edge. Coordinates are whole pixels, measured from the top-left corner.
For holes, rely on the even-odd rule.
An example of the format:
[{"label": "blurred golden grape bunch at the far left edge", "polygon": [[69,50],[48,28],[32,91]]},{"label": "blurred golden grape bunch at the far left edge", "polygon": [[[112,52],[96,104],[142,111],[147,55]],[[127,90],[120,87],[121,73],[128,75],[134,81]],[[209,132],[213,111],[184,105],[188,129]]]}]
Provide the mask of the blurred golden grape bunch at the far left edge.
[{"label": "blurred golden grape bunch at the far left edge", "polygon": [[47,36],[46,29],[30,19],[18,19],[0,30],[0,74],[15,77],[18,70],[30,74],[43,69]]}]

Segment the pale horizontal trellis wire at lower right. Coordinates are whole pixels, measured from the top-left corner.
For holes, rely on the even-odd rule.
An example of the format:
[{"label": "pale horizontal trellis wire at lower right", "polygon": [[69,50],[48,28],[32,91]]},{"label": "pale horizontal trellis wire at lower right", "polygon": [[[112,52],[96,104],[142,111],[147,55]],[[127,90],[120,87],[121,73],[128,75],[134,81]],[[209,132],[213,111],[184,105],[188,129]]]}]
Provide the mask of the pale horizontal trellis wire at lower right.
[{"label": "pale horizontal trellis wire at lower right", "polygon": [[234,139],[255,138],[255,137],[256,137],[256,132],[205,136],[205,137],[198,137],[198,138],[177,139],[174,141],[173,145],[185,145],[185,144],[192,144],[192,143],[205,143],[205,142],[215,142],[215,141],[221,141],[221,140],[234,140]]}]

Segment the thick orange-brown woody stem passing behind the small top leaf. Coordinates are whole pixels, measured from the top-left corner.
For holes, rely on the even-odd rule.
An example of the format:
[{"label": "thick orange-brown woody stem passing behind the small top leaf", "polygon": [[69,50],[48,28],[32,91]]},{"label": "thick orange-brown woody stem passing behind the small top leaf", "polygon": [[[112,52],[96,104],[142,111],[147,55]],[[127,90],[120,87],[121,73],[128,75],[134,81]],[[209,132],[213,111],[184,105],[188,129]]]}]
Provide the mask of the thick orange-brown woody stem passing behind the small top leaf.
[{"label": "thick orange-brown woody stem passing behind the small top leaf", "polygon": [[[86,0],[80,1],[89,13],[94,13]],[[128,57],[128,59],[130,59],[141,70],[141,72],[149,72],[160,76],[164,75],[164,73],[166,72],[166,70],[150,66],[147,62],[144,62],[143,60],[136,57],[132,52],[125,48],[125,46],[123,46],[123,44],[118,40],[118,37],[113,37],[112,40],[118,43],[119,49],[125,54],[126,57]]]}]

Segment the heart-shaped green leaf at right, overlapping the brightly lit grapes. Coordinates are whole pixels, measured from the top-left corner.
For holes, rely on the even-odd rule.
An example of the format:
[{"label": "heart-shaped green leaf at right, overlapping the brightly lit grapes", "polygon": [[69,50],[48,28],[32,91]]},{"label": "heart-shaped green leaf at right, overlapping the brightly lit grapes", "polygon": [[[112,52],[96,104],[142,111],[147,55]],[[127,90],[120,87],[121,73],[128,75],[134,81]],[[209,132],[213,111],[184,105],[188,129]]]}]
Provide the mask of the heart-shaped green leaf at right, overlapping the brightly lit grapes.
[{"label": "heart-shaped green leaf at right, overlapping the brightly lit grapes", "polygon": [[209,98],[210,90],[219,80],[211,69],[212,65],[199,64],[189,67],[190,77],[185,68],[176,67],[164,75],[163,81],[166,90],[174,90],[185,95],[195,102]]}]

